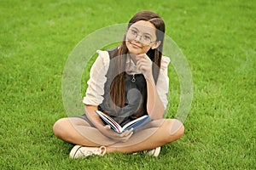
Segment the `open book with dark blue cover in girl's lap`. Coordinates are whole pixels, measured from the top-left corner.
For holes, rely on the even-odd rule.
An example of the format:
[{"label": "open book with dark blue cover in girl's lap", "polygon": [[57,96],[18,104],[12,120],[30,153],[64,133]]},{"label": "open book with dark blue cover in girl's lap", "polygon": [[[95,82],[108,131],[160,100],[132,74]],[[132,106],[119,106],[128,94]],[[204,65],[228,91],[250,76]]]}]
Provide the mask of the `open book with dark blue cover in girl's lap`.
[{"label": "open book with dark blue cover in girl's lap", "polygon": [[151,117],[148,115],[141,116],[131,122],[126,123],[123,127],[119,125],[119,123],[115,122],[113,118],[106,115],[102,111],[96,111],[96,114],[102,118],[102,121],[108,123],[110,127],[117,133],[123,133],[125,130],[129,130],[131,128],[136,129],[137,127],[142,127],[147,122],[151,121]]}]

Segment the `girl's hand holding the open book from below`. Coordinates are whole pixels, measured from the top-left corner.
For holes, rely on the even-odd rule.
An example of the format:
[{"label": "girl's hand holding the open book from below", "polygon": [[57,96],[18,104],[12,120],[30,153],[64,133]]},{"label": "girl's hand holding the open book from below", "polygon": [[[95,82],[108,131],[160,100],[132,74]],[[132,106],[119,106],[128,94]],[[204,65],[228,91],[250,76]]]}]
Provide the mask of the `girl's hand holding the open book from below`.
[{"label": "girl's hand holding the open book from below", "polygon": [[130,130],[126,130],[124,133],[114,132],[109,125],[106,125],[104,129],[104,135],[117,142],[126,142],[128,139],[131,138],[131,135],[133,134],[133,128],[131,128]]}]

